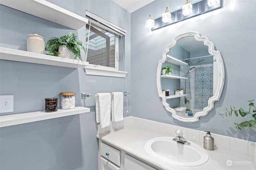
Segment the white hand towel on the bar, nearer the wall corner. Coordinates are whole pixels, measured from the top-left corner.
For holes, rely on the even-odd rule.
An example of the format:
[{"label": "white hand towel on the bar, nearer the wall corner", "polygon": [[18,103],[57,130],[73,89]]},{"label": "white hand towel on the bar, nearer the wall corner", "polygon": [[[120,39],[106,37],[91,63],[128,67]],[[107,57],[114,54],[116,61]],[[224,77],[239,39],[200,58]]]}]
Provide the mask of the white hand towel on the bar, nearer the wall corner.
[{"label": "white hand towel on the bar, nearer the wall corner", "polygon": [[112,121],[124,119],[124,96],[122,92],[113,92],[111,95],[111,117]]}]

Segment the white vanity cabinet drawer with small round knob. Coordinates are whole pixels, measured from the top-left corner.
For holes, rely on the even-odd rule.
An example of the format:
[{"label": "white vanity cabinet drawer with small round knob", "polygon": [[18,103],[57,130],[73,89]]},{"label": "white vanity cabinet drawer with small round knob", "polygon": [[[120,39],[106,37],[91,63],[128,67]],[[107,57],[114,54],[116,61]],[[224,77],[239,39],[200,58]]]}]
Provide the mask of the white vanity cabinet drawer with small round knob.
[{"label": "white vanity cabinet drawer with small round knob", "polygon": [[100,155],[104,158],[110,160],[117,166],[120,166],[120,156],[121,152],[120,150],[117,150],[113,147],[110,147],[109,145],[106,145],[105,143],[100,143]]}]

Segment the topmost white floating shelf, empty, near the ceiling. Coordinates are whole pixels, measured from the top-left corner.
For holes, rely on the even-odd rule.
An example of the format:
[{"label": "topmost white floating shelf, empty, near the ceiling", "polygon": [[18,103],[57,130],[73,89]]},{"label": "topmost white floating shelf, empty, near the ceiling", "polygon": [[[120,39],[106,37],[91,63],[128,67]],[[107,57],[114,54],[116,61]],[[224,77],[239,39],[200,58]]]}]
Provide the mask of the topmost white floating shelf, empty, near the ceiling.
[{"label": "topmost white floating shelf, empty, near the ceiling", "polygon": [[86,18],[46,0],[1,0],[0,4],[76,30],[88,23]]}]

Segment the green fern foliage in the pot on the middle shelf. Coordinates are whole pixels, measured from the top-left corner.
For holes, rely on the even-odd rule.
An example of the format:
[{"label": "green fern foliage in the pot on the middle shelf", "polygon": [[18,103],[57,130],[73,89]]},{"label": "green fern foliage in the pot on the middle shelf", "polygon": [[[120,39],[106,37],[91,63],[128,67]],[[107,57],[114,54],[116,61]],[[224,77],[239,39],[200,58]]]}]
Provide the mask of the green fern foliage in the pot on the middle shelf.
[{"label": "green fern foliage in the pot on the middle shelf", "polygon": [[75,33],[70,33],[69,35],[63,35],[59,38],[50,37],[46,41],[45,50],[49,51],[49,55],[58,56],[59,46],[66,45],[66,47],[73,53],[74,59],[78,58],[82,61],[82,56],[80,52],[80,48],[84,50],[85,48],[82,45],[81,41],[77,41],[77,37]]}]

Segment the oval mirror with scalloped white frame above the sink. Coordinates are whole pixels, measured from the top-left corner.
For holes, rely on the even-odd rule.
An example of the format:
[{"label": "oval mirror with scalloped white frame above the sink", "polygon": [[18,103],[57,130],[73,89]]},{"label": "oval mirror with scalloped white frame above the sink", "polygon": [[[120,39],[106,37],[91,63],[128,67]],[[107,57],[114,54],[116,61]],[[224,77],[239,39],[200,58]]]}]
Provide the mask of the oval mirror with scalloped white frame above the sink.
[{"label": "oval mirror with scalloped white frame above the sink", "polygon": [[158,95],[172,117],[195,122],[220,99],[224,76],[222,56],[214,44],[198,32],[182,33],[166,47],[158,63]]}]

